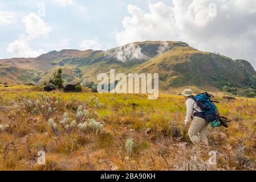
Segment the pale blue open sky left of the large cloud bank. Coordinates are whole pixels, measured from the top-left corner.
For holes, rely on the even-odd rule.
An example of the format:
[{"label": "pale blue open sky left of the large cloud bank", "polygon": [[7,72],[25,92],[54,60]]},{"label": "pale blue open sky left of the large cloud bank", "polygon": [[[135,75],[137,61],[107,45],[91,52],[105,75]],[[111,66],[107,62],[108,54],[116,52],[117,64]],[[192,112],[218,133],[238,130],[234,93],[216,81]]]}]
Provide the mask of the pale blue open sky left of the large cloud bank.
[{"label": "pale blue open sky left of the large cloud bank", "polygon": [[[51,51],[64,48],[82,49],[82,40],[96,40],[100,49],[117,46],[115,32],[121,30],[122,20],[128,15],[127,5],[147,9],[157,1],[0,1],[0,11],[14,13],[13,23],[0,24],[0,57],[13,57],[6,49],[21,35],[26,35],[23,19],[30,13],[38,15],[51,31],[29,41],[32,49]],[[169,4],[170,1],[166,1]],[[45,16],[40,15],[45,6]],[[39,12],[39,13],[38,13]],[[95,46],[92,46],[95,48]],[[39,51],[40,52],[40,51]],[[33,54],[32,54],[33,55]],[[26,56],[26,55],[25,55]],[[30,55],[28,55],[30,56]]]}]

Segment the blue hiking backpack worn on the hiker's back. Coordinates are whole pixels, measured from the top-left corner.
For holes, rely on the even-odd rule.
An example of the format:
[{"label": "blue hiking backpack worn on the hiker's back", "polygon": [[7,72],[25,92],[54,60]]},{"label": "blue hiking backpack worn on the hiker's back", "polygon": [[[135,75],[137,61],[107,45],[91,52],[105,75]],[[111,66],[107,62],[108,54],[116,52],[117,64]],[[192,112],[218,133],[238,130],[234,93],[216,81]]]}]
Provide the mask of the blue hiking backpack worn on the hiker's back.
[{"label": "blue hiking backpack worn on the hiker's back", "polygon": [[218,103],[217,101],[212,101],[211,94],[205,92],[200,93],[197,96],[192,97],[196,104],[202,110],[202,113],[196,111],[196,114],[201,114],[201,117],[204,117],[207,122],[210,122],[210,125],[213,127],[221,126],[221,122],[219,121],[220,113],[214,104],[214,102]]}]

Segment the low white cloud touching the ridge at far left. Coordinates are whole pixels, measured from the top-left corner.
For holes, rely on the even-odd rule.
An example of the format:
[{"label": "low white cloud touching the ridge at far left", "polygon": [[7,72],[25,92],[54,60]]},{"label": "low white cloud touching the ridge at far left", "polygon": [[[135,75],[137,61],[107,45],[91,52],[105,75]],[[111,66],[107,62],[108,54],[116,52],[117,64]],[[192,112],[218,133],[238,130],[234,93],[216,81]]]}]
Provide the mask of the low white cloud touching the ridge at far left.
[{"label": "low white cloud touching the ridge at far left", "polygon": [[18,40],[9,44],[7,52],[11,53],[14,57],[37,57],[46,51],[42,49],[32,50],[27,38],[22,35]]}]

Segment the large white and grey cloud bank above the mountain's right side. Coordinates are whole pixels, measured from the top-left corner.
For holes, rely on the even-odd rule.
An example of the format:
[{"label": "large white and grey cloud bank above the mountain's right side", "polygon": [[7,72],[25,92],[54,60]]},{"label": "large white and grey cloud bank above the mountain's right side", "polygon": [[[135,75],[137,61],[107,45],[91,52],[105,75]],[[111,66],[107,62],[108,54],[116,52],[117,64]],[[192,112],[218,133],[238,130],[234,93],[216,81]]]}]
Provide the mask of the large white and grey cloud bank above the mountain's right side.
[{"label": "large white and grey cloud bank above the mountain's right side", "polygon": [[178,40],[202,51],[217,51],[234,59],[255,59],[255,0],[173,0],[158,2],[144,12],[128,5],[117,44],[144,40]]}]

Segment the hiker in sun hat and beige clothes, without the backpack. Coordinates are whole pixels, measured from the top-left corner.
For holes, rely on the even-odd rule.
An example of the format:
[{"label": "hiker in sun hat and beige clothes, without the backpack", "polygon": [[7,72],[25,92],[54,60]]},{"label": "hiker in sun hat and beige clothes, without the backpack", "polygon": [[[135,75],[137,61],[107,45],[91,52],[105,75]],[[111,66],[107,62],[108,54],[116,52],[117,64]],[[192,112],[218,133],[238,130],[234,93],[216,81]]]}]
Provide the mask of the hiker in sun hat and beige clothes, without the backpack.
[{"label": "hiker in sun hat and beige clothes, without the backpack", "polygon": [[193,97],[195,94],[191,89],[185,89],[181,93],[186,98],[186,118],[184,125],[188,125],[191,118],[192,123],[189,127],[188,135],[194,144],[203,143],[208,146],[208,139],[206,138],[206,130],[209,122],[206,122],[204,114]]}]

